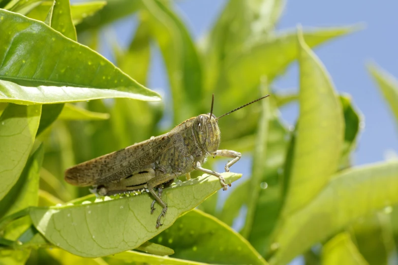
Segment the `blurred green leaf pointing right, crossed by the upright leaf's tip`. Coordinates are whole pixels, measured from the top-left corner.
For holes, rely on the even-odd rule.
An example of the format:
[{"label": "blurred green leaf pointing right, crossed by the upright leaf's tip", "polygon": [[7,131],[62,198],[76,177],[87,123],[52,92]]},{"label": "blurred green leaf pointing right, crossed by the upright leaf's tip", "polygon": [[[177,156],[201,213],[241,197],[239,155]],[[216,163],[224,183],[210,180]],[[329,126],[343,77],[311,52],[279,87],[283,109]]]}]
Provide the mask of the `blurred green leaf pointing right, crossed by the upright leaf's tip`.
[{"label": "blurred green leaf pointing right, crossed by the upright leaf's tip", "polygon": [[[305,43],[310,47],[315,47],[355,30],[357,30],[355,26],[320,28],[304,32],[303,37]],[[234,93],[235,97],[249,101],[252,92],[257,89],[263,76],[267,77],[269,83],[272,82],[297,57],[296,32],[277,34],[269,40],[249,47],[237,56],[231,57],[226,62],[226,69],[222,73],[222,84],[217,88],[219,91],[222,90],[222,97],[228,93]],[[244,84],[244,89],[241,84]],[[226,102],[223,111],[232,109],[232,103]]]}]

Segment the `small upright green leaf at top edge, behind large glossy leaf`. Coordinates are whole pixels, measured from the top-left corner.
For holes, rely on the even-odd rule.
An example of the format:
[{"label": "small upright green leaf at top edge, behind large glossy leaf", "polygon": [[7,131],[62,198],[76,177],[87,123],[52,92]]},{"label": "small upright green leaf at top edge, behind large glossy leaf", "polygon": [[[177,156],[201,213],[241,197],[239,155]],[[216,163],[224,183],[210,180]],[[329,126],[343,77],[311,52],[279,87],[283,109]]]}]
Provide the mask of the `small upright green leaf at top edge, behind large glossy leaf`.
[{"label": "small upright green leaf at top edge, behind large glossy leaf", "polygon": [[52,9],[51,22],[49,25],[65,37],[77,41],[69,0],[54,1],[54,8]]}]

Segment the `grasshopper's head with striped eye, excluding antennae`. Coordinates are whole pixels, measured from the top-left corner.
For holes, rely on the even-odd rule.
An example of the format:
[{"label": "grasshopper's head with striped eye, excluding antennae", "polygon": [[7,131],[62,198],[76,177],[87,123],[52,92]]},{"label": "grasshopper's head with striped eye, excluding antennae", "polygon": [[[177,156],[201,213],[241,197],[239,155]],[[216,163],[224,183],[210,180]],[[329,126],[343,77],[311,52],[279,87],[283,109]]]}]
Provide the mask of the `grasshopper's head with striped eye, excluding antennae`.
[{"label": "grasshopper's head with striped eye, excluding antennae", "polygon": [[192,132],[197,145],[205,153],[214,153],[220,145],[220,128],[216,116],[213,114],[201,114],[192,123]]}]

